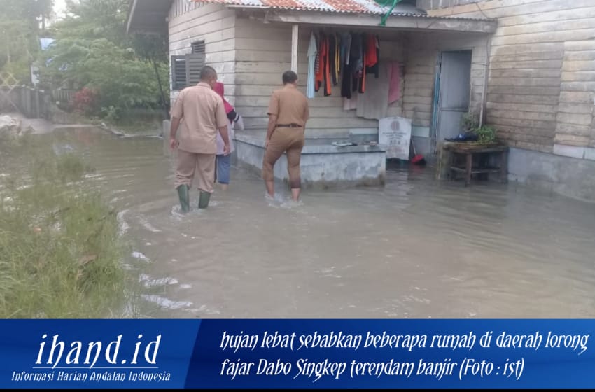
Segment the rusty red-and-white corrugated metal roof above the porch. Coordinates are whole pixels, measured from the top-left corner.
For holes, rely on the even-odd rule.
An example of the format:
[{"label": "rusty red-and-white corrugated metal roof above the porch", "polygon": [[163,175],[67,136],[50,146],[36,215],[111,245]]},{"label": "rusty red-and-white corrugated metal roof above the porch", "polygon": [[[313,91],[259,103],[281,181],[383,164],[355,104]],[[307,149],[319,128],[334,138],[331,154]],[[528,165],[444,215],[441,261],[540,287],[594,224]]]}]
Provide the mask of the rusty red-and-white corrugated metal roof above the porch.
[{"label": "rusty red-and-white corrugated metal roof above the porch", "polygon": [[[385,15],[389,7],[379,6],[374,0],[193,0],[204,3],[220,3],[226,6],[246,6],[249,8],[276,8],[283,10],[310,10],[335,13],[365,13]],[[398,4],[395,15],[426,15],[408,4]]]}]

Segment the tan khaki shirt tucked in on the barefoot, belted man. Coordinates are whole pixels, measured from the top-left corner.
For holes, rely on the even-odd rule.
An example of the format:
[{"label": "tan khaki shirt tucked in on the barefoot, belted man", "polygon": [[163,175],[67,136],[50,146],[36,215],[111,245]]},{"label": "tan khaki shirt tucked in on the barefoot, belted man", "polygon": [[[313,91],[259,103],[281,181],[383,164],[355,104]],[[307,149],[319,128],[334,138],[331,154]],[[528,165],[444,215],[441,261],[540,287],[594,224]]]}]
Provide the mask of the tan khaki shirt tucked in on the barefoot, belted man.
[{"label": "tan khaki shirt tucked in on the barefoot, belted man", "polygon": [[308,99],[293,85],[273,92],[267,113],[277,116],[277,124],[299,124],[302,127],[310,117]]}]

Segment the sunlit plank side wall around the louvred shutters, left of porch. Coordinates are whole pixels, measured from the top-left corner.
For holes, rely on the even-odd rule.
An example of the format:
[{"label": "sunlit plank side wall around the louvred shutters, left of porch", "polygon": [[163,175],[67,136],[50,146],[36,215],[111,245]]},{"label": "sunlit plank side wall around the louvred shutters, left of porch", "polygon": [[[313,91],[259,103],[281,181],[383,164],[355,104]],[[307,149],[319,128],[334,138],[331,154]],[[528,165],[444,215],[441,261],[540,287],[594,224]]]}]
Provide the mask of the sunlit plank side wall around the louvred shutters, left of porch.
[{"label": "sunlit plank side wall around the louvred shutters, left of porch", "polygon": [[[204,40],[206,63],[218,71],[219,80],[226,85],[225,95],[230,97],[235,74],[235,20],[235,11],[224,6],[188,0],[174,1],[169,17],[169,54],[185,55],[194,41]],[[177,93],[172,91],[172,103]]]}]

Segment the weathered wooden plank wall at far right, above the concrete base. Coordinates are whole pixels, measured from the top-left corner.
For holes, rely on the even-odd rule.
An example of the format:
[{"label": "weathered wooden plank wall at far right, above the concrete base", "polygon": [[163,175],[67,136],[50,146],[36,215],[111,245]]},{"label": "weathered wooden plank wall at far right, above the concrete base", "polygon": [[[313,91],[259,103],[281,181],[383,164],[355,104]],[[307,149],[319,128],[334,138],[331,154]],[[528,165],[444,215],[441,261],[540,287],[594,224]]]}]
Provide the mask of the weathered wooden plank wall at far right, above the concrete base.
[{"label": "weathered wooden plank wall at far right, above the concrete base", "polygon": [[429,13],[498,19],[487,121],[511,146],[551,153],[554,143],[595,145],[587,108],[595,92],[595,1],[482,0]]}]

